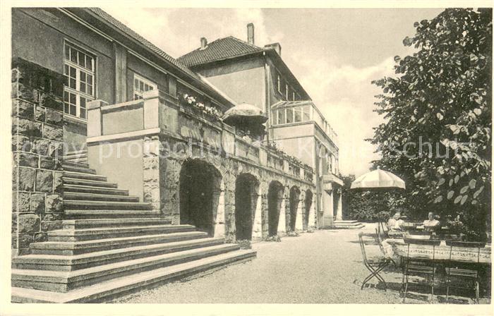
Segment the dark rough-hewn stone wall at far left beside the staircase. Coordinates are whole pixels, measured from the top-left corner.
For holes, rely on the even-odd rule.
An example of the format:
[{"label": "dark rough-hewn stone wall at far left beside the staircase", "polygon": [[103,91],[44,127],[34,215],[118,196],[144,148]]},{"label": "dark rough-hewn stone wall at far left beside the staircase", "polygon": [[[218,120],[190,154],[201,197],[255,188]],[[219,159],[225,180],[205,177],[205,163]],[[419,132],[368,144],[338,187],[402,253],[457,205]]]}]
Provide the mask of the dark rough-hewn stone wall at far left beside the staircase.
[{"label": "dark rough-hewn stone wall at far left beside the staircase", "polygon": [[64,77],[12,62],[12,254],[61,228]]}]

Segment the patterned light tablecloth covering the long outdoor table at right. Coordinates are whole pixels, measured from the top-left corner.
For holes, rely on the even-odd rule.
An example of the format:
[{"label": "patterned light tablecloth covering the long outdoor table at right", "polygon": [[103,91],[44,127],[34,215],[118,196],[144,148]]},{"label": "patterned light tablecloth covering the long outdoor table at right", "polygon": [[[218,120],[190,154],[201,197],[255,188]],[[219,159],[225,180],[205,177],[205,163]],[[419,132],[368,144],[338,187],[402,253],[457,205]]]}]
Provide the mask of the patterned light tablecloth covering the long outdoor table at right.
[{"label": "patterned light tablecloth covering the long outdoor table at right", "polygon": [[[399,257],[406,257],[408,245],[404,243],[402,238],[388,238],[382,241],[383,248],[387,249],[387,255],[398,255]],[[477,255],[479,255],[479,263],[490,263],[490,244],[487,244],[485,248],[481,248],[478,253],[478,248],[458,248],[454,247],[451,253],[452,261],[462,262],[477,262]],[[392,253],[390,252],[392,250]],[[440,245],[435,247],[434,259],[435,260],[450,260],[451,247],[446,245],[445,241],[441,241]],[[410,244],[409,257],[416,258],[428,258],[433,259],[433,248],[430,245],[416,245]]]}]

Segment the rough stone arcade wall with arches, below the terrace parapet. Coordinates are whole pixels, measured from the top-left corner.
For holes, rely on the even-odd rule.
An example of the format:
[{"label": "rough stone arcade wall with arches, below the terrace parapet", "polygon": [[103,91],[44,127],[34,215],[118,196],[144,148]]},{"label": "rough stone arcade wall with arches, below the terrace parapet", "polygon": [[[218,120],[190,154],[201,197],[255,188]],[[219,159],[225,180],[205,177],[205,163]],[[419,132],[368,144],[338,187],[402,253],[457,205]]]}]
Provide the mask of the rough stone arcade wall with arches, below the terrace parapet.
[{"label": "rough stone arcade wall with arches, below the terrace parapet", "polygon": [[[236,157],[222,157],[219,155],[205,154],[201,157],[199,154],[200,148],[193,146],[192,151],[188,150],[188,145],[184,140],[177,140],[176,138],[170,138],[168,135],[162,133],[159,138],[155,137],[153,140],[148,141],[155,142],[153,148],[155,148],[154,154],[151,157],[145,158],[147,164],[145,169],[150,171],[153,176],[145,178],[145,200],[152,202],[154,205],[160,205],[162,215],[170,219],[172,224],[180,224],[180,171],[183,164],[188,159],[198,159],[203,162],[214,166],[214,168],[221,174],[220,188],[220,202],[214,209],[215,219],[213,226],[215,227],[216,237],[225,237],[229,241],[235,240],[236,225],[235,225],[235,187],[236,179],[241,174],[250,174],[259,182],[258,188],[258,203],[256,203],[255,213],[253,214],[253,238],[261,239],[268,237],[268,200],[267,190],[271,181],[277,181],[282,183],[284,187],[281,209],[279,209],[279,224],[278,234],[283,236],[287,231],[290,231],[289,227],[290,209],[289,209],[289,194],[290,189],[293,187],[299,188],[301,194],[298,196],[299,202],[296,203],[296,221],[295,229],[302,231],[303,229],[315,228],[315,212],[313,209],[305,209],[305,195],[307,190],[314,191],[313,184],[310,181],[306,181],[303,178],[296,178],[289,174],[282,174],[275,169],[263,168],[259,164],[251,163],[243,159]],[[179,142],[181,145],[177,145]],[[182,152],[171,154],[167,152],[167,149],[160,147],[159,152],[157,148],[159,144],[167,143],[170,147],[181,147]],[[161,183],[161,186],[157,186],[157,183]],[[147,198],[146,198],[147,197]],[[315,195],[314,195],[315,197]],[[313,200],[312,206],[315,205]],[[311,219],[305,219],[305,214],[310,214],[313,217]],[[303,227],[303,221],[308,222],[307,227]]]}]

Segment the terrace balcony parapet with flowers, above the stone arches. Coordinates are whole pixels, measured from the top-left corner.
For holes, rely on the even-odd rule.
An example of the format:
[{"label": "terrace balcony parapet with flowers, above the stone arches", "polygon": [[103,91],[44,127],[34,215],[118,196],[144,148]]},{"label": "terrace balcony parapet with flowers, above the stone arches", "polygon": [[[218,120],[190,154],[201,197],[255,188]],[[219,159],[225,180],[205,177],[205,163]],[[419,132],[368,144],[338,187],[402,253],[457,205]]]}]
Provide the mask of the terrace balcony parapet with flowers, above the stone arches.
[{"label": "terrace balcony parapet with flowers, above the stone arches", "polygon": [[175,142],[188,142],[194,150],[205,150],[218,157],[274,169],[303,181],[313,181],[313,169],[294,157],[237,135],[213,116],[180,104],[176,97],[158,90],[145,92],[144,99],[121,104],[100,100],[88,104],[88,145],[126,142],[158,136],[167,140],[169,150]]}]

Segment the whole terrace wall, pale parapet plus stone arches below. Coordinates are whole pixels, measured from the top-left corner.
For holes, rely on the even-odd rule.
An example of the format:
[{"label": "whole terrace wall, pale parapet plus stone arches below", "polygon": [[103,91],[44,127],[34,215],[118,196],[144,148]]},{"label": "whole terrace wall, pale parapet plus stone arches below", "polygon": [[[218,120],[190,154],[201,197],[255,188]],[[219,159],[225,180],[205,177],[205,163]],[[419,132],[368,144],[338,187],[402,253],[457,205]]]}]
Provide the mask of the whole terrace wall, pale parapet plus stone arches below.
[{"label": "whole terrace wall, pale parapet plus stone arches below", "polygon": [[[191,163],[197,163],[201,169],[214,170],[210,225],[215,237],[225,237],[229,241],[236,238],[236,180],[245,174],[259,183],[257,193],[251,197],[257,200],[255,212],[251,214],[253,238],[268,237],[267,191],[272,181],[283,187],[277,233],[284,235],[293,229],[314,227],[314,209],[306,210],[303,201],[308,190],[315,192],[311,167],[253,140],[240,138],[231,126],[189,111],[176,98],[159,90],[145,92],[142,101],[133,103],[132,107],[129,105],[129,102],[108,105],[97,100],[88,104],[90,167],[99,174],[112,176],[111,170],[116,168],[116,152],[107,154],[104,147],[108,144],[125,147],[124,144],[131,140],[142,144],[142,151],[135,155],[135,159],[140,160],[142,174],[131,171],[135,166],[131,166],[128,160],[119,159],[119,168],[128,171],[120,172],[121,178],[116,182],[124,183],[131,179],[140,184],[143,201],[151,203],[153,209],[161,212],[162,217],[172,224],[181,223],[181,171],[193,160]],[[104,125],[115,123],[115,118],[105,119],[109,110],[126,116],[135,108],[143,111],[141,130],[129,132],[121,128],[105,133]],[[292,188],[300,194],[292,203],[296,208],[290,212],[289,193]],[[315,205],[315,201],[311,205]],[[290,213],[296,216],[295,221],[290,219]],[[307,219],[307,216],[311,218]],[[304,225],[304,222],[308,224]]]}]

